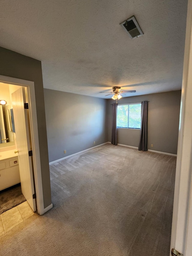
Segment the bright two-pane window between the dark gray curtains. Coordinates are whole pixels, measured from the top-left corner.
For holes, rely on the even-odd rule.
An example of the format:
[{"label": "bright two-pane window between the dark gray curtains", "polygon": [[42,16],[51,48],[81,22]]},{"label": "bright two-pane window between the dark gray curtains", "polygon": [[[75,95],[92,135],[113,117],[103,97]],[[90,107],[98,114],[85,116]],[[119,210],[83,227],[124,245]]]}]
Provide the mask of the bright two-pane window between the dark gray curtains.
[{"label": "bright two-pane window between the dark gray curtains", "polygon": [[117,106],[117,128],[141,128],[141,103]]}]

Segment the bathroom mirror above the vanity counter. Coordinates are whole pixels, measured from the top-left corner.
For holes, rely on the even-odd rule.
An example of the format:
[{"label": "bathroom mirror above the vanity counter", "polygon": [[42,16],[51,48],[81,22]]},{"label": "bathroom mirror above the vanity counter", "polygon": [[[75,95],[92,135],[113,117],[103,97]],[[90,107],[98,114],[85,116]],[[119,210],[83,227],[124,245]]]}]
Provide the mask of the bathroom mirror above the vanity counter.
[{"label": "bathroom mirror above the vanity counter", "polygon": [[9,105],[0,105],[0,147],[13,146],[13,118]]}]

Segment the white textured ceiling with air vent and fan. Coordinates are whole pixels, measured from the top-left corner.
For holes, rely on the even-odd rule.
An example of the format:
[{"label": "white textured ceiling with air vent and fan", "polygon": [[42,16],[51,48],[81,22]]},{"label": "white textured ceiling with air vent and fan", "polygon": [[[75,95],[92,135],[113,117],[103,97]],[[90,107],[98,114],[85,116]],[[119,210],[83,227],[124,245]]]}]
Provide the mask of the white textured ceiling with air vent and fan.
[{"label": "white textured ceiling with air vent and fan", "polygon": [[[186,13],[187,0],[1,0],[0,46],[41,60],[44,88],[179,90]],[[133,15],[144,35],[131,40],[119,23]]]}]

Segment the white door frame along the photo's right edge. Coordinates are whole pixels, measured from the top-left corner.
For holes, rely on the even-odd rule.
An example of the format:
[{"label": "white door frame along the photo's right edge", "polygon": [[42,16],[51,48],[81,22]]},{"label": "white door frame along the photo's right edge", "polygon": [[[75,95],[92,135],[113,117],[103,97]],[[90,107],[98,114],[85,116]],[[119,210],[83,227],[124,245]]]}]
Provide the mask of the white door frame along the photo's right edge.
[{"label": "white door frame along the photo's right edge", "polygon": [[[192,0],[188,0],[171,247],[192,251]],[[170,253],[171,255],[171,253]]]}]

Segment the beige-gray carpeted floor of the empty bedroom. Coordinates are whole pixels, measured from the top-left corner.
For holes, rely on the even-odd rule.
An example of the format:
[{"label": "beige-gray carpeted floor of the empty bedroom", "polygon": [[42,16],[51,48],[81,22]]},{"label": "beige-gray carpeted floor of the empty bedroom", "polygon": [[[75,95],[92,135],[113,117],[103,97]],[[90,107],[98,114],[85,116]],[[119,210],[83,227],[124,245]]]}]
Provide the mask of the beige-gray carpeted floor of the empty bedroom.
[{"label": "beige-gray carpeted floor of the empty bedroom", "polygon": [[106,144],[50,166],[52,203],[0,255],[169,256],[176,157]]}]

